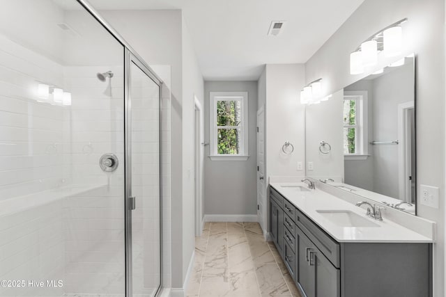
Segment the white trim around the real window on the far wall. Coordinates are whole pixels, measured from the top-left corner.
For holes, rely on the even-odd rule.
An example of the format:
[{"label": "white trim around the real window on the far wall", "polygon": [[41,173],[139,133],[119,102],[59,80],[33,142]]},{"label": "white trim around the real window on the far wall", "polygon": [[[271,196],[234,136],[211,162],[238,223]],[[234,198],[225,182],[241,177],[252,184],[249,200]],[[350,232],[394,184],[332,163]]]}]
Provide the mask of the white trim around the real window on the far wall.
[{"label": "white trim around the real window on the far wall", "polygon": [[[246,161],[248,155],[248,93],[247,92],[210,92],[209,93],[209,145],[212,161]],[[217,101],[240,100],[242,102],[241,131],[243,136],[242,154],[217,154]]]}]

